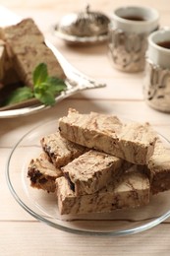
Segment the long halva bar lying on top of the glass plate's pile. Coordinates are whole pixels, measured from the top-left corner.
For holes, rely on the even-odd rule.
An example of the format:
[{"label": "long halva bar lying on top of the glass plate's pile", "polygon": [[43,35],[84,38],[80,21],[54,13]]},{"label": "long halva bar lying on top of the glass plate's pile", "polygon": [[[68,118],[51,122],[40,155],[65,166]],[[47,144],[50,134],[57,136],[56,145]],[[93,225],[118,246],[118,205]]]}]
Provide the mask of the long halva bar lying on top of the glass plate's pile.
[{"label": "long halva bar lying on top of the glass plate's pile", "polygon": [[137,164],[149,160],[156,140],[148,123],[123,124],[116,116],[80,114],[75,109],[59,119],[59,130],[72,142]]}]

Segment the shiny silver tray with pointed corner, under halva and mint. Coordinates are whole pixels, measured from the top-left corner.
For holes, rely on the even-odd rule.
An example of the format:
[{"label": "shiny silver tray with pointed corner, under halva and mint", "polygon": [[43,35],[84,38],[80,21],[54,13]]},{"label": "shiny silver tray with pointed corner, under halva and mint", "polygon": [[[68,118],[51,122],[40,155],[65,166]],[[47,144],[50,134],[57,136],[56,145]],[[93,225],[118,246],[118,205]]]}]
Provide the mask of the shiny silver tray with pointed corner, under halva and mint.
[{"label": "shiny silver tray with pointed corner, under halva and mint", "polygon": [[[59,96],[56,96],[55,102],[59,102],[62,99],[77,94],[86,89],[95,89],[105,87],[105,84],[96,83],[91,78],[85,76],[83,73],[75,69],[58,51],[58,49],[49,41],[45,40],[46,45],[53,51],[54,55],[58,59],[63,71],[66,75],[65,83],[67,85],[67,90],[62,92]],[[1,110],[0,118],[13,118],[22,115],[28,115],[32,113],[39,112],[41,110],[50,108],[49,105],[44,105],[42,103],[33,103],[27,107],[15,108],[10,110]]]}]

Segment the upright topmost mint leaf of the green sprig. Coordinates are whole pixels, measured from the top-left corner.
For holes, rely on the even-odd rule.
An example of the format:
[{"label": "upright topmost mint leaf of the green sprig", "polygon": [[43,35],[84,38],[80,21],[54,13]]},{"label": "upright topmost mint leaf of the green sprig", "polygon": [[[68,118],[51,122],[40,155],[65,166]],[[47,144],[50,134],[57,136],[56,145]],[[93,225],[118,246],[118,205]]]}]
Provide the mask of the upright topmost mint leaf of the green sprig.
[{"label": "upright topmost mint leaf of the green sprig", "polygon": [[48,78],[47,66],[45,63],[40,63],[33,71],[33,85],[40,85]]}]

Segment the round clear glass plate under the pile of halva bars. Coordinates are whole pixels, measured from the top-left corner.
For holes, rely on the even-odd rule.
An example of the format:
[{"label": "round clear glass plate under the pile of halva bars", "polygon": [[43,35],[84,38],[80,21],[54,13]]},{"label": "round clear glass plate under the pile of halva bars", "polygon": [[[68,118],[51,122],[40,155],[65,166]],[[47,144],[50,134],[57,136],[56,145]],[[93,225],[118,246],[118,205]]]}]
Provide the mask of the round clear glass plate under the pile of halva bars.
[{"label": "round clear glass plate under the pile of halva bars", "polygon": [[[17,202],[35,219],[58,229],[94,235],[127,235],[153,227],[170,217],[170,191],[152,196],[150,204],[138,209],[108,214],[60,216],[54,194],[29,185],[28,163],[41,152],[41,137],[56,132],[52,120],[29,131],[15,146],[7,164],[7,181]],[[161,137],[169,147],[170,143]]]}]

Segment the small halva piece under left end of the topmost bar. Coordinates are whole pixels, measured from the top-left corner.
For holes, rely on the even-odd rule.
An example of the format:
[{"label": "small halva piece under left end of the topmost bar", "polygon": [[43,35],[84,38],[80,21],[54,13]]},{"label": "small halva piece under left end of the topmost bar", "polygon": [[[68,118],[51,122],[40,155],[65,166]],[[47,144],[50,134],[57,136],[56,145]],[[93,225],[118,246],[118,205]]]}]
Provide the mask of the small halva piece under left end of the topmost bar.
[{"label": "small halva piece under left end of the topmost bar", "polygon": [[59,132],[44,136],[40,140],[43,151],[56,167],[66,165],[85,153],[85,147],[68,141]]}]

